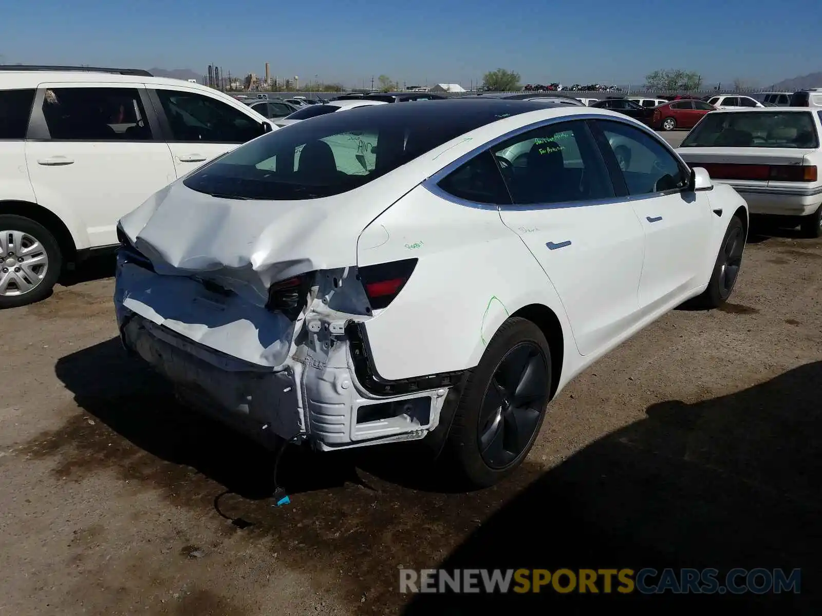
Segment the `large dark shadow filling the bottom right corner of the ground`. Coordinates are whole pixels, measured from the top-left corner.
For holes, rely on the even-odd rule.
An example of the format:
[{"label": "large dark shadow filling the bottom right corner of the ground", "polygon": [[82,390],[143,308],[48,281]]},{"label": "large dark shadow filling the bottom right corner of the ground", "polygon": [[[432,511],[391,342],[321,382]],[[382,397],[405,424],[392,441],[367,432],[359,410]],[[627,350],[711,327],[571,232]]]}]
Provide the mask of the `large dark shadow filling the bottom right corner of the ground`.
[{"label": "large dark shadow filling the bottom right corner of the ground", "polygon": [[634,614],[693,614],[717,600],[729,614],[818,614],[820,390],[822,362],[815,362],[706,402],[655,404],[647,419],[547,471],[431,563],[448,570],[717,568],[720,582],[737,567],[801,568],[801,594],[608,595],[600,583],[598,595],[551,586],[538,595],[411,595],[404,614],[577,614],[603,601]]}]

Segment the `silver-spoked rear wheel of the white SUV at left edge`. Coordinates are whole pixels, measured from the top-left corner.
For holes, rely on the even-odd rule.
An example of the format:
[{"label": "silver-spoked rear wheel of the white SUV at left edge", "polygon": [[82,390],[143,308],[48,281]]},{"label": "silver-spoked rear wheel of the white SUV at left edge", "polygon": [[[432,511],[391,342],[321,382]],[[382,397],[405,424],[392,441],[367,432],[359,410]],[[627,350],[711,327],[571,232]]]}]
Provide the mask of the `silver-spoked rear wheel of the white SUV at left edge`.
[{"label": "silver-spoked rear wheel of the white SUV at left edge", "polygon": [[60,247],[47,228],[30,218],[0,214],[0,308],[48,297],[61,268]]}]

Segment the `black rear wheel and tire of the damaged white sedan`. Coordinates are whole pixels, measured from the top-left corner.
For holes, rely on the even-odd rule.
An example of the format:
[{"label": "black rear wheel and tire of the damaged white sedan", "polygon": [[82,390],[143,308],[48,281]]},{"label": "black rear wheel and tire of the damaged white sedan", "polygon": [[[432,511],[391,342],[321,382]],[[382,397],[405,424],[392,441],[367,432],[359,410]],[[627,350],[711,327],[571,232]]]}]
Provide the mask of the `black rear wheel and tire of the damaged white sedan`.
[{"label": "black rear wheel and tire of the damaged white sedan", "polygon": [[528,455],[551,394],[551,350],[528,319],[506,320],[465,384],[446,443],[459,483],[483,488]]}]

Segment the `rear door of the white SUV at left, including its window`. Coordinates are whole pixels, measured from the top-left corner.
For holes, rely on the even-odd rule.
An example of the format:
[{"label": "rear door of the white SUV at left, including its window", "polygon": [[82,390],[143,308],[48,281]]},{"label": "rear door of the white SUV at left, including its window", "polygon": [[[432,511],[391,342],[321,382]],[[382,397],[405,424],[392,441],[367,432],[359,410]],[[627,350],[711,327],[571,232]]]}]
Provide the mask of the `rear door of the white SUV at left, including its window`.
[{"label": "rear door of the white SUV at left, including its window", "polygon": [[25,159],[37,201],[76,216],[88,246],[118,242],[119,218],[176,179],[139,83],[42,83]]}]

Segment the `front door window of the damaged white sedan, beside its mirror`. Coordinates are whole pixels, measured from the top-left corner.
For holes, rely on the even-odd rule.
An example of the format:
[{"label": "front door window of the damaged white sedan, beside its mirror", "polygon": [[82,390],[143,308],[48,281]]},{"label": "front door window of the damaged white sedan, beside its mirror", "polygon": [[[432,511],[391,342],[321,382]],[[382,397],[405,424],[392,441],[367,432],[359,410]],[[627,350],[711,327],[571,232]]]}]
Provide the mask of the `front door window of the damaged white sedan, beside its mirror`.
[{"label": "front door window of the damaged white sedan, beside its mirror", "polygon": [[690,172],[658,140],[621,122],[598,120],[612,154],[625,178],[629,195],[681,190]]}]

